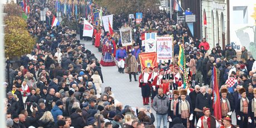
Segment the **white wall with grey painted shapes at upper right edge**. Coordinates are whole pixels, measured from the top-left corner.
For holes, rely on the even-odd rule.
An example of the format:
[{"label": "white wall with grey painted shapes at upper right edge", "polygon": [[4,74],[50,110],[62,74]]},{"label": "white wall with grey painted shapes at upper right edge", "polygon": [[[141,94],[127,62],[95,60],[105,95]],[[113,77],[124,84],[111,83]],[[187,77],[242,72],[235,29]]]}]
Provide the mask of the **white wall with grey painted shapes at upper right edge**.
[{"label": "white wall with grey painted shapes at upper right edge", "polygon": [[[255,20],[251,17],[254,12],[254,4],[256,4],[256,1],[252,0],[243,0],[243,2],[232,0],[230,2],[230,42],[235,42],[240,47],[245,46],[248,50],[249,43],[254,42],[253,28],[250,28],[255,23]],[[246,11],[234,11],[234,7],[238,8],[239,6],[247,7]],[[244,19],[243,12],[245,13]]]}]

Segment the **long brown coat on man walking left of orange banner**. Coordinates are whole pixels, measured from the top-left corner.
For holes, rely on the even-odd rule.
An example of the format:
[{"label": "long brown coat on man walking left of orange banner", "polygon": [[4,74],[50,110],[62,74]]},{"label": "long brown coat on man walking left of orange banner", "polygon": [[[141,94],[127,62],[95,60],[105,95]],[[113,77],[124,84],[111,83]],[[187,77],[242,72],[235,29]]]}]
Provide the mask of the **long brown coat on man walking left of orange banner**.
[{"label": "long brown coat on man walking left of orange banner", "polygon": [[135,56],[126,57],[125,64],[126,64],[126,73],[138,71],[138,64],[137,64]]}]

